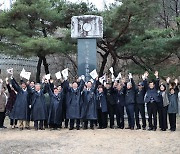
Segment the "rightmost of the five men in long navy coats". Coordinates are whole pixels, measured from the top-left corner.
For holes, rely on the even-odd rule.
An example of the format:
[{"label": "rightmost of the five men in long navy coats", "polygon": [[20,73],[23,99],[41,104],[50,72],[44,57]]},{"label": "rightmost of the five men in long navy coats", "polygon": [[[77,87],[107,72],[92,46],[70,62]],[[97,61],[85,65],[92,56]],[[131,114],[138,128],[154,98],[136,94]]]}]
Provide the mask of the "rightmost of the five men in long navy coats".
[{"label": "rightmost of the five men in long navy coats", "polygon": [[94,121],[97,120],[97,104],[96,104],[96,89],[97,81],[94,83],[87,82],[87,88],[82,92],[82,106],[81,118],[84,120],[84,129],[88,128],[88,121],[90,121],[90,128],[94,129]]}]

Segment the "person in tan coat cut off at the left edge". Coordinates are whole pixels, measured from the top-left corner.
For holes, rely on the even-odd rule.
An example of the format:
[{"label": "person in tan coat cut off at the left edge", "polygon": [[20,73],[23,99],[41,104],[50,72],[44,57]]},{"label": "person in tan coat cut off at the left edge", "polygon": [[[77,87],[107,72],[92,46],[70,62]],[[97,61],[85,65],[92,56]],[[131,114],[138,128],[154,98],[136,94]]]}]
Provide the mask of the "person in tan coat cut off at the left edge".
[{"label": "person in tan coat cut off at the left edge", "polygon": [[5,87],[3,87],[3,80],[0,79],[0,128],[7,128],[4,126],[6,103],[7,96],[5,94]]}]

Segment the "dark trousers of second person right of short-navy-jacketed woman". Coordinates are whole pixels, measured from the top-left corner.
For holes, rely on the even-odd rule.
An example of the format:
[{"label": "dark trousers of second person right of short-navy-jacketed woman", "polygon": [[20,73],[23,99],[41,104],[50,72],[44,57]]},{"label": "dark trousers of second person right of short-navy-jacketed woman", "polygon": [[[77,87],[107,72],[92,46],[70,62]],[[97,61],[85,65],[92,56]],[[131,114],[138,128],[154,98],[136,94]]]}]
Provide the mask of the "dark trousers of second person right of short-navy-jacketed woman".
[{"label": "dark trousers of second person right of short-navy-jacketed woman", "polygon": [[124,106],[116,105],[116,121],[119,128],[124,128]]}]

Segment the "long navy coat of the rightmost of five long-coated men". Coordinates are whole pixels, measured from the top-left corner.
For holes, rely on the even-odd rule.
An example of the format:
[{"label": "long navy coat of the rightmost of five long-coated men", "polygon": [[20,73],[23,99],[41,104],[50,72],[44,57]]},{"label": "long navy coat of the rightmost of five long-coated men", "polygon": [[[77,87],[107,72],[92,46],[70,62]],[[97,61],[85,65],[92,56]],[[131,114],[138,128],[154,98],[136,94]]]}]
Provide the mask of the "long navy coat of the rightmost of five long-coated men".
[{"label": "long navy coat of the rightmost of five long-coated men", "polygon": [[81,118],[86,120],[97,119],[97,104],[96,104],[96,81],[92,88],[88,91],[85,89],[82,93],[83,104],[81,107]]}]

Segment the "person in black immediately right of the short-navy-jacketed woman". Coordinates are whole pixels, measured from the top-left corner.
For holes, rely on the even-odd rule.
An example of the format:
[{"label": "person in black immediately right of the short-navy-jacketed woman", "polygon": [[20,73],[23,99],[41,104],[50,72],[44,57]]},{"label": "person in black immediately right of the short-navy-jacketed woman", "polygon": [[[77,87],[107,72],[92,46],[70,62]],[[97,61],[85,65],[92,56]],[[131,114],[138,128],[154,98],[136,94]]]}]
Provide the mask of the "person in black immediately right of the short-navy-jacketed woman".
[{"label": "person in black immediately right of the short-navy-jacketed woman", "polygon": [[104,94],[106,96],[108,115],[110,118],[110,128],[114,129],[114,115],[116,113],[116,102],[114,98],[114,88],[112,83],[105,83]]}]

